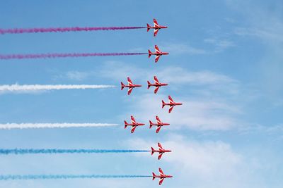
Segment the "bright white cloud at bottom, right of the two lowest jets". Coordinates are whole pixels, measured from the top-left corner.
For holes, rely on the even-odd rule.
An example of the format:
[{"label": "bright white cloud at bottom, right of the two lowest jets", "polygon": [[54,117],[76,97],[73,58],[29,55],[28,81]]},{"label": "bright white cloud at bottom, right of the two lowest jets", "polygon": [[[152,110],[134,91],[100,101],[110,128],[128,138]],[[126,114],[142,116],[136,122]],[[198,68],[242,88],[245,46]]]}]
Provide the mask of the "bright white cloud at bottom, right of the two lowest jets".
[{"label": "bright white cloud at bottom, right of the two lowest jets", "polygon": [[[125,141],[133,149],[148,148],[156,143],[148,139]],[[265,187],[266,184],[254,184],[257,170],[265,170],[258,158],[250,160],[234,151],[230,144],[221,141],[196,141],[178,134],[171,134],[161,143],[163,148],[171,149],[164,153],[161,161],[170,166],[174,175],[175,187]],[[137,153],[136,156],[148,156]],[[250,161],[254,161],[250,163]],[[255,163],[255,161],[258,161]],[[170,183],[169,180],[166,183]],[[170,187],[170,186],[169,186]]]}]

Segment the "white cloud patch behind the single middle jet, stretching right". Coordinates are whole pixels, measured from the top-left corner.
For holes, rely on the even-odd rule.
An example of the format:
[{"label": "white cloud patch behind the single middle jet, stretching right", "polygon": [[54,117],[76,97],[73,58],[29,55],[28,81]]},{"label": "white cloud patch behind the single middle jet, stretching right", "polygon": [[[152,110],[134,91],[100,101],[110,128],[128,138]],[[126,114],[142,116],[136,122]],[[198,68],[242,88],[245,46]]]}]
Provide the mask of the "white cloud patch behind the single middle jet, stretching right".
[{"label": "white cloud patch behind the single middle jet, stretching right", "polygon": [[154,115],[159,115],[161,120],[171,123],[171,126],[164,127],[161,131],[184,127],[192,130],[229,130],[237,126],[238,121],[233,114],[241,113],[241,110],[235,106],[213,100],[172,97],[174,101],[183,103],[183,106],[175,106],[172,113],[168,113],[167,106],[161,109],[161,100],[168,101],[168,96],[162,94],[154,97],[151,94],[141,96],[129,108],[129,112],[134,112],[134,115],[145,122],[148,122],[149,118],[153,120]]}]

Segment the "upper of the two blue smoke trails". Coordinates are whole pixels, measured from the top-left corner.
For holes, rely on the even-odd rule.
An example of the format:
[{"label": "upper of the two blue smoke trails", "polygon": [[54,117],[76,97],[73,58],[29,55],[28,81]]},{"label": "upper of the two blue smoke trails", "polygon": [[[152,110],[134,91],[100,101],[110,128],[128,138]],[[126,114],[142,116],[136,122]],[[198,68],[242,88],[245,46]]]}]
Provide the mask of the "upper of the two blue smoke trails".
[{"label": "upper of the two blue smoke trails", "polygon": [[149,150],[124,150],[124,149],[0,149],[0,154],[54,154],[54,153],[138,153]]}]

